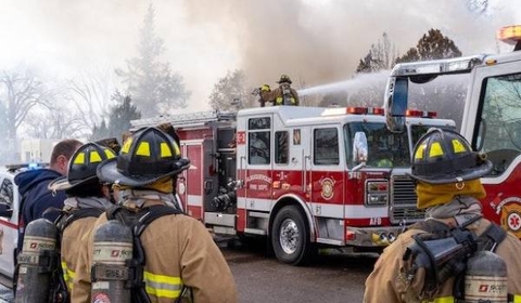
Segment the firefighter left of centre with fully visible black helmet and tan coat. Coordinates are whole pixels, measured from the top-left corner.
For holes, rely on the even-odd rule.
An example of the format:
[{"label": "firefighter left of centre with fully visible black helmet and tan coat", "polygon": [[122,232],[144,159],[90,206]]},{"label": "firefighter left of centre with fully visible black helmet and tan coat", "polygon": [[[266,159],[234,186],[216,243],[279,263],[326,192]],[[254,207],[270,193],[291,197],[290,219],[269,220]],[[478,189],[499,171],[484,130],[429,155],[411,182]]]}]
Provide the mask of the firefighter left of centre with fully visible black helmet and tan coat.
[{"label": "firefighter left of centre with fully visible black helmet and tan coat", "polygon": [[[188,169],[174,139],[157,128],[143,128],[128,137],[119,155],[98,167],[100,180],[119,187],[118,206],[140,213],[153,206],[175,207],[171,179]],[[94,226],[106,223],[102,214]],[[73,302],[90,302],[94,228],[84,237],[76,267]],[[175,302],[185,287],[194,302],[237,302],[237,288],[225,258],[204,225],[185,214],[167,214],[140,236],[144,250],[143,282],[150,302]],[[145,287],[144,287],[145,286]],[[97,298],[92,298],[96,300]]]}]

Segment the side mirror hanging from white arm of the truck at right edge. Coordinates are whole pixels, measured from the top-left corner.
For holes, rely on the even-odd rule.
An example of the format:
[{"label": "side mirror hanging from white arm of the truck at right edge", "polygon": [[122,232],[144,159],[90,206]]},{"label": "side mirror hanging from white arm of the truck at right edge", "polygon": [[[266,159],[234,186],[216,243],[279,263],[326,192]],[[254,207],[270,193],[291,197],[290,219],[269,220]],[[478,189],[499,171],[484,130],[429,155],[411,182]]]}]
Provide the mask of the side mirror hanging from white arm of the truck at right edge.
[{"label": "side mirror hanging from white arm of the truck at right edge", "polygon": [[401,133],[405,129],[405,111],[408,103],[409,80],[391,77],[385,89],[385,121],[387,129]]}]

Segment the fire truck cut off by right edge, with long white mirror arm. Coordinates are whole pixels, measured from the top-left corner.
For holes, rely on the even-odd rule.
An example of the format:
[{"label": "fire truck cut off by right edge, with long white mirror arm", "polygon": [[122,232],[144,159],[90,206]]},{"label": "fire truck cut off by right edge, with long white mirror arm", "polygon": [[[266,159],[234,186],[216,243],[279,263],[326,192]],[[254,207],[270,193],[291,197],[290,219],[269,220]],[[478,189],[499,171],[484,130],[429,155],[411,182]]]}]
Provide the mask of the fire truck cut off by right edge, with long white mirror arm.
[{"label": "fire truck cut off by right edge, with long white mirror arm", "polygon": [[470,80],[460,133],[494,164],[482,177],[484,215],[521,238],[521,25],[504,27],[497,36],[516,44],[514,51],[396,65],[384,107],[389,129],[408,131],[409,87],[424,85],[439,76],[467,74]]}]

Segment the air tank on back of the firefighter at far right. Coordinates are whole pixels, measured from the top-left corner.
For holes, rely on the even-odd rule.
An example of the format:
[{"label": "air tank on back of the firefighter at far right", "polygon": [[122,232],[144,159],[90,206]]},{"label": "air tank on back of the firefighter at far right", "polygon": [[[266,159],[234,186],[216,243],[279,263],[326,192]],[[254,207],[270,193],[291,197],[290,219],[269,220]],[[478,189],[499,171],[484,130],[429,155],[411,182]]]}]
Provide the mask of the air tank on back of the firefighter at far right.
[{"label": "air tank on back of the firefighter at far right", "polygon": [[478,251],[467,261],[466,303],[507,303],[507,265],[491,251]]}]

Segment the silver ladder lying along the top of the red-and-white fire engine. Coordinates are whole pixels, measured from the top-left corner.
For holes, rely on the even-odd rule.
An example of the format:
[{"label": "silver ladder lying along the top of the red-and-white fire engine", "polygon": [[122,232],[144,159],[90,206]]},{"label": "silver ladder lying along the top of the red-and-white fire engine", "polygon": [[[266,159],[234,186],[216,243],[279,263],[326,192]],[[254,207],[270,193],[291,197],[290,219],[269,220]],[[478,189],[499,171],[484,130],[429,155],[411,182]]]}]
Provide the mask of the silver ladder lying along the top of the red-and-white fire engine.
[{"label": "silver ladder lying along the top of the red-and-white fire engine", "polygon": [[137,119],[130,121],[130,131],[143,127],[155,127],[163,123],[170,123],[175,128],[196,128],[203,127],[209,122],[236,121],[236,113],[232,111],[194,111],[179,115],[165,115],[154,118]]}]

